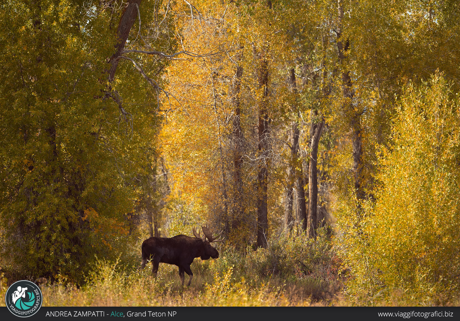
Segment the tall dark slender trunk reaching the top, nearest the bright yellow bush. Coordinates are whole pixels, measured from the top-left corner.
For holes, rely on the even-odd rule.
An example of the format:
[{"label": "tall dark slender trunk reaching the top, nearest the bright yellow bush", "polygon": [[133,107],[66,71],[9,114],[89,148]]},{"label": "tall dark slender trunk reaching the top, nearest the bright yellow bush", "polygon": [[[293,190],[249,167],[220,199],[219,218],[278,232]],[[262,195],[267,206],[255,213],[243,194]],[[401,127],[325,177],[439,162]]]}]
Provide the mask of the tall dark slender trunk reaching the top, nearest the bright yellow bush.
[{"label": "tall dark slender trunk reaching the top, nearest the bright yellow bush", "polygon": [[353,149],[353,171],[354,171],[354,187],[357,198],[357,210],[360,215],[362,205],[361,201],[365,198],[364,188],[362,186],[362,126],[361,112],[353,106],[354,90],[352,87],[350,70],[345,68],[345,55],[350,48],[350,41],[347,39],[345,44],[342,42],[342,21],[344,17],[344,9],[342,0],[338,0],[339,5],[339,27],[337,30],[337,48],[339,54],[339,64],[342,65],[342,87],[344,98],[344,111],[349,118],[351,128],[351,144]]}]

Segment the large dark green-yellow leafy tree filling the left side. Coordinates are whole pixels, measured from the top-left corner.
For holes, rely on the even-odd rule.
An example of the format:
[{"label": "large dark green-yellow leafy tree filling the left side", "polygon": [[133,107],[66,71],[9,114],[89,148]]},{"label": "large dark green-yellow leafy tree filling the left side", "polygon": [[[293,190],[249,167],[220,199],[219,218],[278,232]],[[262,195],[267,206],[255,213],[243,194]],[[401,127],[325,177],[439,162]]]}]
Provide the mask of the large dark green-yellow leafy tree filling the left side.
[{"label": "large dark green-yellow leafy tree filling the left side", "polygon": [[80,282],[94,254],[118,256],[135,230],[157,100],[137,70],[107,62],[126,39],[133,44],[138,3],[0,6],[2,264],[20,273]]}]

